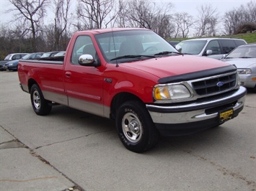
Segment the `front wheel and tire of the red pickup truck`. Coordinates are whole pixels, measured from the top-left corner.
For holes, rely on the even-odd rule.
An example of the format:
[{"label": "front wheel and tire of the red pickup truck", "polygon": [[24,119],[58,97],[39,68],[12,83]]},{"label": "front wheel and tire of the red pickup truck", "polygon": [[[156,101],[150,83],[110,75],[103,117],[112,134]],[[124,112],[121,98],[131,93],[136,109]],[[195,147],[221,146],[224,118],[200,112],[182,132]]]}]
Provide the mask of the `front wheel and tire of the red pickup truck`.
[{"label": "front wheel and tire of the red pickup truck", "polygon": [[118,109],[115,123],[120,140],[126,149],[132,152],[146,152],[153,148],[159,139],[159,132],[149,112],[139,101],[123,103]]}]

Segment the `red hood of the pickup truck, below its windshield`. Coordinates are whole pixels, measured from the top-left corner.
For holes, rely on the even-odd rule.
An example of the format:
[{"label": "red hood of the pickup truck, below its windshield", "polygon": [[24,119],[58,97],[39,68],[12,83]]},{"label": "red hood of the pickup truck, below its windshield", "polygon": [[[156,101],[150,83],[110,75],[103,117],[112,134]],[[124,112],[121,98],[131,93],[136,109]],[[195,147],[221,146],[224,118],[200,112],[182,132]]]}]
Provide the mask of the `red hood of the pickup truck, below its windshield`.
[{"label": "red hood of the pickup truck, below its windshield", "polygon": [[220,60],[198,57],[193,55],[174,55],[168,57],[156,57],[138,62],[123,63],[126,67],[150,73],[159,78],[195,73],[200,70],[209,70],[216,67],[225,67],[228,63]]}]

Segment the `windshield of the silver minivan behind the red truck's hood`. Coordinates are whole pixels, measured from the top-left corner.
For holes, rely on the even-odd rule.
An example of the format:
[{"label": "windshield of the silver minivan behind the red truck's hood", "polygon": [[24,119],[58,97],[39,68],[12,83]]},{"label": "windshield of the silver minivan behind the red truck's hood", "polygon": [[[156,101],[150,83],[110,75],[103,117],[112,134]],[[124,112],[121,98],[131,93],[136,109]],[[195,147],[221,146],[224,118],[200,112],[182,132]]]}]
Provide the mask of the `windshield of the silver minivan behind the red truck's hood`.
[{"label": "windshield of the silver minivan behind the red truck's hood", "polygon": [[203,47],[206,45],[206,40],[190,40],[190,41],[182,41],[177,45],[180,45],[180,52],[189,55],[198,55]]}]

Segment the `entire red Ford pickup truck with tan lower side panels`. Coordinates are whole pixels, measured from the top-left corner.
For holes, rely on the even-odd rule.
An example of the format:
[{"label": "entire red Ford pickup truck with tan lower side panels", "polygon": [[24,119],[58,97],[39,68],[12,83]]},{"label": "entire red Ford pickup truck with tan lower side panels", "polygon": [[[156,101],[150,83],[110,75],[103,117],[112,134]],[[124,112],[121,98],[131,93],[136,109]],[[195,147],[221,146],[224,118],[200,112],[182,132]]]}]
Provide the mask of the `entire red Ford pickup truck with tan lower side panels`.
[{"label": "entire red Ford pickup truck with tan lower side panels", "polygon": [[18,75],[37,115],[59,103],[111,118],[133,152],[151,149],[159,135],[223,124],[247,93],[233,65],[184,55],[149,29],[76,32],[63,60],[21,60]]}]

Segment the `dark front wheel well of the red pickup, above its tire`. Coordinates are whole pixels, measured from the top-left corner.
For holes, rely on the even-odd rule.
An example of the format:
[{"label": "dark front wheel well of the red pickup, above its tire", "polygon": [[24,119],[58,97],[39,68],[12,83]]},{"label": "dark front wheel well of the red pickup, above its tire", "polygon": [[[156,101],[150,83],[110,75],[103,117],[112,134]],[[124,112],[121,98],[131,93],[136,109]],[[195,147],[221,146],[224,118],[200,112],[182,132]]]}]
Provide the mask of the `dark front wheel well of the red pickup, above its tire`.
[{"label": "dark front wheel well of the red pickup, above its tire", "polygon": [[[110,118],[115,119],[116,111],[118,110],[119,106],[126,101],[131,100],[141,101],[140,98],[138,98],[136,95],[133,95],[132,93],[118,93],[118,95],[115,95],[111,103]],[[141,102],[143,103],[143,101]]]}]

